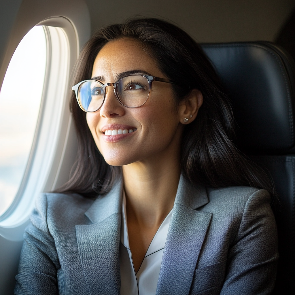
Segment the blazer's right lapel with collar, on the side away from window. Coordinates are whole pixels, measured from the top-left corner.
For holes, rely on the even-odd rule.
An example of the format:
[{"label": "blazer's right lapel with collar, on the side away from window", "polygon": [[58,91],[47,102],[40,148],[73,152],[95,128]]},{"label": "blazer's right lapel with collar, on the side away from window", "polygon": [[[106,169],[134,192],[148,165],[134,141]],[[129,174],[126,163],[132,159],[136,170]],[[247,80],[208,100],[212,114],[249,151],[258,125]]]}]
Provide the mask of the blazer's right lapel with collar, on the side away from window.
[{"label": "blazer's right lapel with collar, on the side away from window", "polygon": [[196,209],[209,202],[204,187],[181,175],[163,252],[156,295],[189,294],[212,214]]}]

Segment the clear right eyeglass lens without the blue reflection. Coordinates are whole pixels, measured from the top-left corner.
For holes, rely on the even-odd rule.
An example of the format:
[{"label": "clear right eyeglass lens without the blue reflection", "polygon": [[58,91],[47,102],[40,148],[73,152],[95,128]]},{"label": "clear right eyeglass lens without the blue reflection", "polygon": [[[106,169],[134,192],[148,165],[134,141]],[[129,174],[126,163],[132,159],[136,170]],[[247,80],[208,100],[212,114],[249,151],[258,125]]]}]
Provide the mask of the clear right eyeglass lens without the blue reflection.
[{"label": "clear right eyeglass lens without the blue reflection", "polygon": [[141,106],[148,99],[149,82],[143,76],[127,76],[119,81],[117,95],[125,106]]}]

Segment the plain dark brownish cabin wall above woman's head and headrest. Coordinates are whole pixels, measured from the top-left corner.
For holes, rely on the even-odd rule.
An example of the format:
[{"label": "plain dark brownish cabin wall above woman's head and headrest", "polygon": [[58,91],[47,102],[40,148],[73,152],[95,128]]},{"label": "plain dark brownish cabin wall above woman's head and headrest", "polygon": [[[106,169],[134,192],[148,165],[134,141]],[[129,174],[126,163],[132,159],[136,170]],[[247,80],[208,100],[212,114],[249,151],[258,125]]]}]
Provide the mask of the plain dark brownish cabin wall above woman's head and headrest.
[{"label": "plain dark brownish cabin wall above woman's head and headrest", "polygon": [[273,41],[294,0],[86,0],[92,31],[142,14],[171,20],[198,42]]}]

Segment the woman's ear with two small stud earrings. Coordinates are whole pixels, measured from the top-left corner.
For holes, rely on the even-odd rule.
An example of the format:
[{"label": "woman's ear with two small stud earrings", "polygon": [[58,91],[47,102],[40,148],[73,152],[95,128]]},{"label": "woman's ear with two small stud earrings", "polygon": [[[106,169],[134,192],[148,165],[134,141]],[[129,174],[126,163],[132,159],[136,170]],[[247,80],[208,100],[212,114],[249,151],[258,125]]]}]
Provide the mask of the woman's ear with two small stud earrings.
[{"label": "woman's ear with two small stud earrings", "polygon": [[196,119],[199,108],[203,103],[203,95],[199,89],[192,89],[186,100],[179,106],[179,122],[189,124]]}]

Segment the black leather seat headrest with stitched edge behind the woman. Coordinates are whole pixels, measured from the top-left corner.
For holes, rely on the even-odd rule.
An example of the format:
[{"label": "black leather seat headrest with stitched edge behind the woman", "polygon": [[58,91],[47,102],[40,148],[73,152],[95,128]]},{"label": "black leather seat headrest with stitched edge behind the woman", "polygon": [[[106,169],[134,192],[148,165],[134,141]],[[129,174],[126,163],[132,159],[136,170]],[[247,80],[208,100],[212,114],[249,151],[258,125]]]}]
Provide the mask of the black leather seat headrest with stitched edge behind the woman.
[{"label": "black leather seat headrest with stitched edge behind the woman", "polygon": [[250,153],[290,153],[294,65],[271,42],[202,44],[232,103],[238,145]]}]

